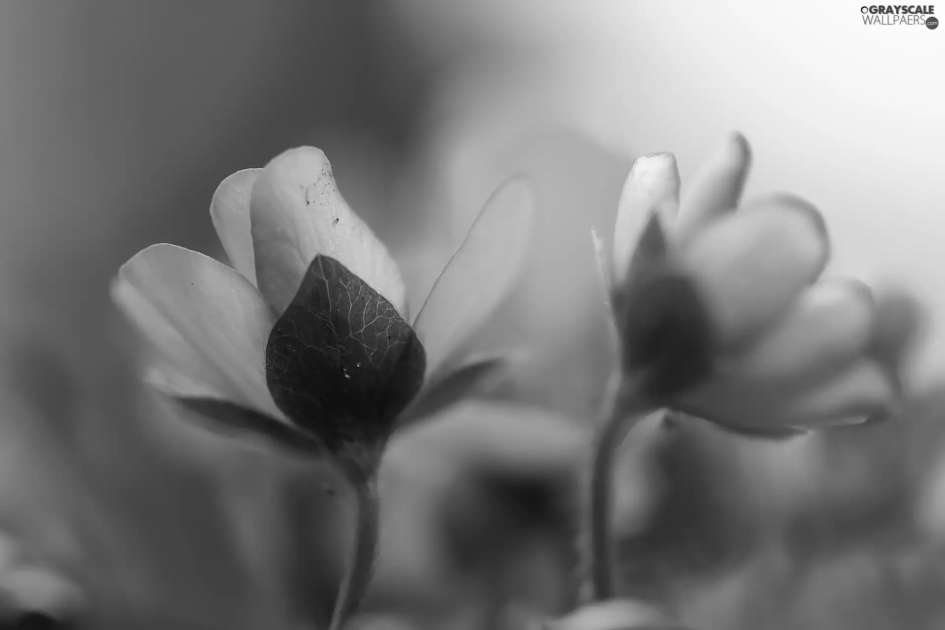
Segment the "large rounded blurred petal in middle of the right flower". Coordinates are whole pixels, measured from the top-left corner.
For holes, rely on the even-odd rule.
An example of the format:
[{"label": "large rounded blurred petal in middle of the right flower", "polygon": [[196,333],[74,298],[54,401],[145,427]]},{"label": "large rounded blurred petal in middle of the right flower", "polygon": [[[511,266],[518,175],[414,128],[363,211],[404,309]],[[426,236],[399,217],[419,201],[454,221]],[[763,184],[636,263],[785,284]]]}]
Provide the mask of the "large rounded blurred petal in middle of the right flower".
[{"label": "large rounded blurred petal in middle of the right flower", "polygon": [[713,221],[680,258],[713,315],[720,344],[744,340],[816,281],[830,247],[816,209],[772,196]]}]

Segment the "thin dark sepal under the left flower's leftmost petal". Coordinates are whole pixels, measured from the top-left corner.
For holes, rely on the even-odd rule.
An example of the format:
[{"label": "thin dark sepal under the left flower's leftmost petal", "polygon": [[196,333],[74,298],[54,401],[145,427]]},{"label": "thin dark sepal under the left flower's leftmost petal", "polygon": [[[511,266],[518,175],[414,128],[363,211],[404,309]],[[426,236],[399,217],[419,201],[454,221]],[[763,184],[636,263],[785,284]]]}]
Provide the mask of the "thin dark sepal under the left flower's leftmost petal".
[{"label": "thin dark sepal under the left flower's leftmost petal", "polygon": [[194,412],[214,433],[262,438],[280,449],[305,456],[325,453],[325,445],[317,437],[235,402],[183,396],[173,398]]}]

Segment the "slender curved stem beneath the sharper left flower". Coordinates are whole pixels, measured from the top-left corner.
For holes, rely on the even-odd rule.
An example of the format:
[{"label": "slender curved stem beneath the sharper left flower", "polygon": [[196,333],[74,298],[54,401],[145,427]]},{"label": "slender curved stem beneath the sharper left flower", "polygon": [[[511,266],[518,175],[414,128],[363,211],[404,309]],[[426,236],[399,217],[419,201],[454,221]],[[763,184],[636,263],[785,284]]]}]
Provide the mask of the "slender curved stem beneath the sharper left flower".
[{"label": "slender curved stem beneath the sharper left flower", "polygon": [[370,582],[377,550],[380,503],[377,480],[371,476],[366,482],[355,484],[357,495],[357,524],[354,529],[351,565],[338,589],[331,630],[339,630],[351,617]]}]

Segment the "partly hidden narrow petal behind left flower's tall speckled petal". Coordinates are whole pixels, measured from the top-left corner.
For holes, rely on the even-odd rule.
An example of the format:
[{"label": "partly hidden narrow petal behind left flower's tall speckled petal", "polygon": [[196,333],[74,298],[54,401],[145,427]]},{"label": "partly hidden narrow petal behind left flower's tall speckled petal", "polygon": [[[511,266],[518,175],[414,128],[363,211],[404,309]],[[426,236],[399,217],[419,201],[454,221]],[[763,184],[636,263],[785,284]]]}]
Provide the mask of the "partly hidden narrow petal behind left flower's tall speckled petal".
[{"label": "partly hidden narrow petal behind left flower's tall speckled petal", "polygon": [[233,173],[216,187],[214,200],[210,202],[210,218],[232,268],[253,284],[256,283],[256,263],[249,226],[249,196],[262,172],[261,168],[247,168]]}]

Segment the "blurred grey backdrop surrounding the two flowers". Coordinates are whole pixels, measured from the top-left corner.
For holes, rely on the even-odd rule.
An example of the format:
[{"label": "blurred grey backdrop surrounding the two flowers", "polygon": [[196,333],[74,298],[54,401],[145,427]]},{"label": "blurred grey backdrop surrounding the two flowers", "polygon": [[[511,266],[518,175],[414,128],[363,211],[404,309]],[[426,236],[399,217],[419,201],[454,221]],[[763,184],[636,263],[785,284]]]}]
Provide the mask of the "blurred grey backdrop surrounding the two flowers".
[{"label": "blurred grey backdrop surrounding the two flowers", "polygon": [[491,400],[391,445],[357,622],[566,610],[610,367],[576,235],[607,234],[637,155],[674,152],[685,182],[739,129],[747,195],[809,198],[830,272],[904,283],[936,332],[888,424],[771,444],[675,420],[629,440],[623,588],[706,630],[941,627],[943,59],[945,30],[865,26],[853,3],[0,4],[0,616],[292,627],[329,588],[331,505],[298,467],[164,429],[108,298],[152,243],[222,259],[216,185],[295,145],[326,152],[415,310],[491,191],[536,182],[526,277],[477,342],[533,352]]}]

